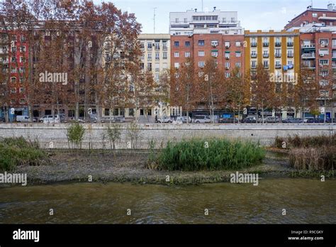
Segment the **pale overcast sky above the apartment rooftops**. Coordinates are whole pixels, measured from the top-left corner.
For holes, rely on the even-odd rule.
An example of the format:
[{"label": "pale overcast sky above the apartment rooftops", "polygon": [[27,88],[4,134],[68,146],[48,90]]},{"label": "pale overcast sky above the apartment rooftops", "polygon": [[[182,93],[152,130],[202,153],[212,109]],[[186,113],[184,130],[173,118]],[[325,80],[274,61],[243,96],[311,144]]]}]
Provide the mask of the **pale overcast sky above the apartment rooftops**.
[{"label": "pale overcast sky above the apartment rooftops", "polygon": [[[201,0],[113,0],[112,2],[122,11],[135,13],[142,24],[142,33],[153,33],[154,8],[157,8],[155,33],[168,33],[169,12],[187,9],[201,11],[202,6]],[[288,21],[305,11],[311,2],[311,0],[203,0],[203,9],[211,11],[213,6],[216,6],[221,11],[237,11],[238,20],[246,30],[281,30]],[[313,0],[313,8],[327,9],[327,4],[330,2],[336,4],[336,1]]]}]

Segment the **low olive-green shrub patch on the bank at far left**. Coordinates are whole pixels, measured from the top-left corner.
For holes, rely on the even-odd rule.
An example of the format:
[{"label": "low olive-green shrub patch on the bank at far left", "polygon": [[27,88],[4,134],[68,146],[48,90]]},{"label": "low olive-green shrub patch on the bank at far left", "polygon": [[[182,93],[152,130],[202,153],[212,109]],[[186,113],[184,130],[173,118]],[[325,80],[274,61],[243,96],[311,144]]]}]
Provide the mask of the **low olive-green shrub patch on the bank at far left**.
[{"label": "low olive-green shrub patch on the bank at far left", "polygon": [[0,170],[10,171],[17,165],[41,165],[49,162],[47,153],[39,148],[37,141],[23,137],[0,139]]}]

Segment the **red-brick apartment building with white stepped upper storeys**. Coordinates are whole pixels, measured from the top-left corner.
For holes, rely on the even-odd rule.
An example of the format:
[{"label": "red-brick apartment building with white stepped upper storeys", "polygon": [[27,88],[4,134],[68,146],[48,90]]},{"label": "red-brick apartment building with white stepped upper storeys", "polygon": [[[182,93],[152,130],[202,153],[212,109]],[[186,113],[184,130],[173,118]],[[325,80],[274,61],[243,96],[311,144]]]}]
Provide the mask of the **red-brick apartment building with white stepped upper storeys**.
[{"label": "red-brick apartment building with white stepped upper storeys", "polygon": [[244,30],[237,12],[174,12],[170,13],[171,66],[178,68],[187,57],[203,67],[208,57],[215,57],[218,66],[230,77],[234,67],[244,72]]}]

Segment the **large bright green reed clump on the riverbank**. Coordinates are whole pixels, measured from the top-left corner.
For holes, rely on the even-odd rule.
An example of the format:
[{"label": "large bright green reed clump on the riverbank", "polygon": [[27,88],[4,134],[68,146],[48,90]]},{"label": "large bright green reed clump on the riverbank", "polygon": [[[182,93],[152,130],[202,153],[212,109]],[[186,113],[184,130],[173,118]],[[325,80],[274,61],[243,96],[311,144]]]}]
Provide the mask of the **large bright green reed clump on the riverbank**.
[{"label": "large bright green reed clump on the riverbank", "polygon": [[259,144],[213,138],[169,142],[157,162],[164,170],[239,170],[263,158],[264,149]]}]

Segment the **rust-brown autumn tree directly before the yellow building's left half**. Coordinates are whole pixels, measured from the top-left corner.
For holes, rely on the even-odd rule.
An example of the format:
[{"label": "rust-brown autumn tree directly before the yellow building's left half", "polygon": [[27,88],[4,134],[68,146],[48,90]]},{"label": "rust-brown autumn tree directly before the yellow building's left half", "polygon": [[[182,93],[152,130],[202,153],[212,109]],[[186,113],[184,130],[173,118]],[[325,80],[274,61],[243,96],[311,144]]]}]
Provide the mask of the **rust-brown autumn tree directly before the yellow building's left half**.
[{"label": "rust-brown autumn tree directly before the yellow building's left half", "polygon": [[[252,105],[262,109],[262,124],[264,123],[264,109],[274,105],[274,82],[271,82],[269,71],[262,64],[257,65],[257,70],[251,82]],[[258,111],[257,111],[258,112]]]}]

